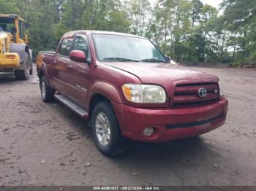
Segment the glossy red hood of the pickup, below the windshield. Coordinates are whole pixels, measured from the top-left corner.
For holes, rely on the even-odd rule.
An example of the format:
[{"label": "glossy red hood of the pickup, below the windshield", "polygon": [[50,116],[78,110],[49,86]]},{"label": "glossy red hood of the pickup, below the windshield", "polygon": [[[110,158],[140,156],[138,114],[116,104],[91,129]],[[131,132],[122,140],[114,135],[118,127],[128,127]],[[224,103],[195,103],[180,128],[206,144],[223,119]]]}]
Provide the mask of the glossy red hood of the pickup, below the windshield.
[{"label": "glossy red hood of the pickup, below the windshield", "polygon": [[171,63],[105,62],[104,64],[134,74],[142,83],[162,84],[164,81],[170,83],[182,80],[217,82],[219,80],[214,75]]}]

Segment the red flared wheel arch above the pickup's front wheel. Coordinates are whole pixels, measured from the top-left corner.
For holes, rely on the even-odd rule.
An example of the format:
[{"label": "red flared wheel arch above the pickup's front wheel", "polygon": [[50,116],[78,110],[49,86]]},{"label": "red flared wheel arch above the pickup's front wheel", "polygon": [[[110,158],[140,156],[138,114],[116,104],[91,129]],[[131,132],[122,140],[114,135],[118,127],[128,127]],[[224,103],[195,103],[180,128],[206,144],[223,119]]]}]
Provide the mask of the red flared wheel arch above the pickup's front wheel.
[{"label": "red flared wheel arch above the pickup's front wheel", "polygon": [[122,99],[118,93],[118,90],[116,90],[116,87],[110,85],[107,82],[95,82],[94,85],[90,87],[88,104],[90,104],[91,98],[95,94],[103,95],[108,98],[109,101],[115,102],[117,104],[122,104]]}]

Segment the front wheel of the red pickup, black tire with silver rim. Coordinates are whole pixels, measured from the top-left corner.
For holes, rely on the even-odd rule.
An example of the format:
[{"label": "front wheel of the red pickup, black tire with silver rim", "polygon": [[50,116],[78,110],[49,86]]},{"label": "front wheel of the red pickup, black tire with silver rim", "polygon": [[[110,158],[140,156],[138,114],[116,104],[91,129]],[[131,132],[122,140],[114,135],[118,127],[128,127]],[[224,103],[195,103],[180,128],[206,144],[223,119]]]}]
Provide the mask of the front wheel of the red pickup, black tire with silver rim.
[{"label": "front wheel of the red pickup, black tire with silver rim", "polygon": [[[102,122],[102,125],[99,125],[100,122]],[[115,157],[127,150],[127,139],[121,134],[116,114],[108,101],[100,102],[95,106],[91,117],[91,125],[95,144],[103,155]],[[104,128],[104,125],[108,128]],[[104,133],[102,133],[102,139],[100,139],[103,131],[105,131],[105,141],[102,141]]]}]

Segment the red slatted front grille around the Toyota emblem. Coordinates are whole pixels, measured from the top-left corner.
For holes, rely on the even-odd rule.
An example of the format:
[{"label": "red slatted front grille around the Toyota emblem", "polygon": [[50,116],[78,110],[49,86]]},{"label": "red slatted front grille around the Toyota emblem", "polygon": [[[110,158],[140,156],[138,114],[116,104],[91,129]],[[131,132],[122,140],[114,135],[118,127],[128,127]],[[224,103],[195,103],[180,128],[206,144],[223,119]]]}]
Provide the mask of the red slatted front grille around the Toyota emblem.
[{"label": "red slatted front grille around the Toyota emblem", "polygon": [[[200,88],[206,88],[207,95],[201,98]],[[217,83],[178,84],[174,89],[172,106],[195,106],[210,104],[219,99],[219,85]]]}]

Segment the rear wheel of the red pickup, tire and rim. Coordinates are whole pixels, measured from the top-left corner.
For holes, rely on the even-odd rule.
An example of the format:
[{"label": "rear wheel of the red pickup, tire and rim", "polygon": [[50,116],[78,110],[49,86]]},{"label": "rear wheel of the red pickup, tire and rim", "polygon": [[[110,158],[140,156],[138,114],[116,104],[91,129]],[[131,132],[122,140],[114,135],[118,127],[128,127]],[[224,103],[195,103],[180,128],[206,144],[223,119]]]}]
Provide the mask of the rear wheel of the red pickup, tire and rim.
[{"label": "rear wheel of the red pickup, tire and rim", "polygon": [[45,77],[40,78],[40,90],[42,101],[44,101],[45,103],[50,103],[54,100],[55,90],[48,86]]}]

